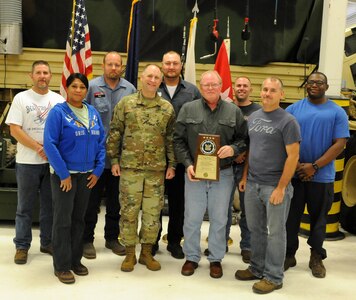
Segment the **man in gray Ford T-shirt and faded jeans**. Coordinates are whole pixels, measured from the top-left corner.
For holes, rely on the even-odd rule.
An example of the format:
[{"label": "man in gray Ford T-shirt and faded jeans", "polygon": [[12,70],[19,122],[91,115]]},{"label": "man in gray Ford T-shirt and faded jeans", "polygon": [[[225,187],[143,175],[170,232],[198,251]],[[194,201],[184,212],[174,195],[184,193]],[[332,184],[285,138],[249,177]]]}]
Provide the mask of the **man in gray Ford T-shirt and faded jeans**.
[{"label": "man in gray Ford T-shirt and faded jeans", "polygon": [[283,285],[285,224],[293,193],[290,180],[299,158],[300,128],[295,118],[279,107],[283,97],[280,79],[263,81],[262,109],[248,118],[250,152],[240,182],[240,188],[245,189],[251,260],[250,266],[236,271],[235,277],[261,279],[252,287],[259,294]]}]

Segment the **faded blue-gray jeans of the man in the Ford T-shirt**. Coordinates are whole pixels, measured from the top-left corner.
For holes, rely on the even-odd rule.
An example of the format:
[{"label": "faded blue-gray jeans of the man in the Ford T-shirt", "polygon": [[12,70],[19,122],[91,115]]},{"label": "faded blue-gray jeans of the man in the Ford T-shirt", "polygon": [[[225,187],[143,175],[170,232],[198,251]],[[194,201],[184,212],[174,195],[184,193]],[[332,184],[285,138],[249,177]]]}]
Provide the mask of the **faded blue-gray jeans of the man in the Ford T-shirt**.
[{"label": "faded blue-gray jeans of the man in the Ford T-shirt", "polygon": [[281,284],[286,254],[286,222],[293,187],[288,184],[283,202],[269,202],[275,186],[247,181],[245,208],[247,225],[251,232],[250,270],[257,277]]}]

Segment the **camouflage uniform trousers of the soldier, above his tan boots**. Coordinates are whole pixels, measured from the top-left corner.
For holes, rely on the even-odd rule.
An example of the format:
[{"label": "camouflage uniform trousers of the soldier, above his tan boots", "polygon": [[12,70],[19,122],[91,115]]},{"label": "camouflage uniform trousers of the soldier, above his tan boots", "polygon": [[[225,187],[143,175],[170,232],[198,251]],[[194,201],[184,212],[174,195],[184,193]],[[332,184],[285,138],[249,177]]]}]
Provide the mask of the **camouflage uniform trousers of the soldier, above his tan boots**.
[{"label": "camouflage uniform trousers of the soldier, above his tan boots", "polygon": [[[125,246],[156,242],[164,204],[164,176],[165,171],[121,169],[120,238]],[[141,228],[137,235],[141,208]]]}]

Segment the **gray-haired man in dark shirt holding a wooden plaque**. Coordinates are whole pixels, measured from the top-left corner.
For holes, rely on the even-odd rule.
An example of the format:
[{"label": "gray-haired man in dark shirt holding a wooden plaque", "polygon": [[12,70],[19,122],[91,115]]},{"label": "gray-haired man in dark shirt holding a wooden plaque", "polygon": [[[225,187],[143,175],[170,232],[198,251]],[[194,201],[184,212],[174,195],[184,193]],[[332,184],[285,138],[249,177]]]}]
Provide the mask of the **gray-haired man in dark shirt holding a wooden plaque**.
[{"label": "gray-haired man in dark shirt holding a wooden plaque", "polygon": [[184,244],[181,273],[189,276],[201,258],[200,228],[208,208],[210,276],[223,275],[225,231],[233,186],[232,162],[246,150],[247,127],[240,109],[222,101],[221,77],[216,71],[201,75],[202,98],[181,108],[174,133],[177,159],[186,168]]}]

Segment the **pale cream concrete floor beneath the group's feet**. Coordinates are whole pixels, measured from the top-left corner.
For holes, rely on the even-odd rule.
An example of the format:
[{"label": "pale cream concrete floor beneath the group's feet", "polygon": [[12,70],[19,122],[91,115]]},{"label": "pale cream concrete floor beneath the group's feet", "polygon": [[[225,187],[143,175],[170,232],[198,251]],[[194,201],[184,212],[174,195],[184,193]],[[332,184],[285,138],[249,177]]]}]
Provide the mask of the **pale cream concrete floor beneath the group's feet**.
[{"label": "pale cream concrete floor beneath the group's feet", "polygon": [[[39,251],[38,228],[33,230],[27,264],[16,265],[12,242],[14,224],[0,223],[1,299],[356,299],[356,236],[348,233],[341,241],[325,242],[328,258],[324,261],[327,269],[324,279],[311,275],[309,248],[306,239],[300,238],[297,266],[285,273],[283,288],[260,296],[252,292],[252,282],[237,281],[234,277],[237,269],[247,267],[239,254],[237,225],[231,232],[234,243],[223,261],[224,276],[212,279],[204,256],[193,276],[182,276],[180,270],[184,260],[172,258],[162,240],[156,256],[161,262],[161,271],[152,272],[137,264],[133,272],[121,272],[123,257],[104,247],[103,220],[101,213],[95,240],[97,258],[82,259],[89,268],[89,275],[76,276],[73,285],[60,283],[53,275],[51,256]],[[202,251],[207,247],[208,225],[204,222],[202,227]],[[164,232],[166,228],[167,218],[164,217]]]}]

